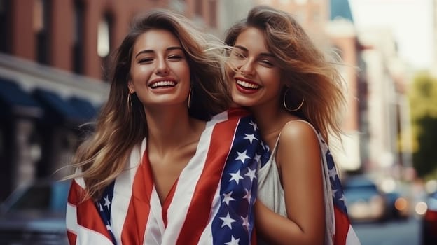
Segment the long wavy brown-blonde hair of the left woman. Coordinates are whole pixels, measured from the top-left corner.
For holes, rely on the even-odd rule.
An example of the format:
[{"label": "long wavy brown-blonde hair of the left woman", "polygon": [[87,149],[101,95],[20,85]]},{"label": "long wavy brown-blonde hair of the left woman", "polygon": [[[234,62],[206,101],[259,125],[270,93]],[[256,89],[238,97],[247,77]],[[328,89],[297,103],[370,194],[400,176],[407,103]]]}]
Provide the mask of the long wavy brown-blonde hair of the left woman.
[{"label": "long wavy brown-blonde hair of the left woman", "polygon": [[83,199],[99,200],[104,188],[125,169],[132,148],[147,137],[146,116],[138,97],[132,94],[132,104],[127,104],[127,82],[134,43],[151,29],[170,31],[186,53],[192,90],[189,115],[209,120],[228,109],[231,99],[221,65],[223,44],[218,38],[196,29],[183,15],[169,10],[152,10],[134,18],[129,34],[111,59],[111,89],[95,123],[95,132],[78,147],[69,166],[75,173],[65,178],[83,178],[86,186]]}]

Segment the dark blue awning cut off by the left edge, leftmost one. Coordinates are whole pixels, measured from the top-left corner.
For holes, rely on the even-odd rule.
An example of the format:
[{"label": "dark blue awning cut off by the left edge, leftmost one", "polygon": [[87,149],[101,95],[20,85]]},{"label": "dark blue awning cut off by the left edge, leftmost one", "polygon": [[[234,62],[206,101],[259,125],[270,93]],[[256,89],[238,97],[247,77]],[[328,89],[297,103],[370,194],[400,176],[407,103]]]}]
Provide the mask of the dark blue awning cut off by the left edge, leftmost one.
[{"label": "dark blue awning cut off by the left edge, leftmost one", "polygon": [[26,116],[41,118],[43,109],[31,94],[22,90],[18,83],[8,78],[0,78],[1,116]]}]

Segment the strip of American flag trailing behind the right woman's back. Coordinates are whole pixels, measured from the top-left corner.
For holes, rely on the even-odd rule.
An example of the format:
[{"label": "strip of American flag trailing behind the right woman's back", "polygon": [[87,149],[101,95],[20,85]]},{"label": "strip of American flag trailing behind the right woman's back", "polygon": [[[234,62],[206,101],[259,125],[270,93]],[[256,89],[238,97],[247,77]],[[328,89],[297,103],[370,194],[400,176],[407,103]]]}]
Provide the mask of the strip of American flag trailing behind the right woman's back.
[{"label": "strip of American flag trailing behind the right woman's back", "polygon": [[354,228],[352,228],[350,223],[349,216],[347,215],[345,195],[343,194],[341,181],[337,169],[335,168],[333,156],[331,155],[331,151],[329,151],[327,144],[322,139],[321,134],[319,134],[318,137],[321,151],[324,154],[324,167],[327,167],[325,173],[327,175],[326,177],[329,178],[333,199],[333,244],[359,245],[361,243],[356,236]]}]

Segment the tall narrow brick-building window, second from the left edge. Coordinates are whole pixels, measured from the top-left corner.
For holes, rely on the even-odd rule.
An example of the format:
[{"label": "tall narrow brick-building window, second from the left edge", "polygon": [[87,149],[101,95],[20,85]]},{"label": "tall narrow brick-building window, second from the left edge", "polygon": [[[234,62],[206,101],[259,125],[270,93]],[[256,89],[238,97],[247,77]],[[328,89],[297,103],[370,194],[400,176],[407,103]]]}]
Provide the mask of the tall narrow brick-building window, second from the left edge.
[{"label": "tall narrow brick-building window, second from the left edge", "polygon": [[34,32],[36,35],[36,60],[41,64],[49,64],[48,47],[50,47],[50,2],[36,0],[34,5]]}]

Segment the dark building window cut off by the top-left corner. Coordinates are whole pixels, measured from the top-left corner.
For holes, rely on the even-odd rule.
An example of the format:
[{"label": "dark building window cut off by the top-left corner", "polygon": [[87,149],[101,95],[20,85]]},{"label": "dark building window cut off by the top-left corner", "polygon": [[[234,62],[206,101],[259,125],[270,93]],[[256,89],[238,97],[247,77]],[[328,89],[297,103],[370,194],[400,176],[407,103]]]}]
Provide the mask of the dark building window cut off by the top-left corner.
[{"label": "dark building window cut off by the top-left corner", "polygon": [[0,52],[11,53],[11,1],[0,0]]}]

